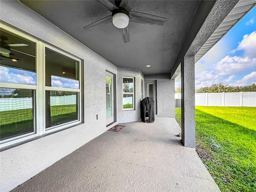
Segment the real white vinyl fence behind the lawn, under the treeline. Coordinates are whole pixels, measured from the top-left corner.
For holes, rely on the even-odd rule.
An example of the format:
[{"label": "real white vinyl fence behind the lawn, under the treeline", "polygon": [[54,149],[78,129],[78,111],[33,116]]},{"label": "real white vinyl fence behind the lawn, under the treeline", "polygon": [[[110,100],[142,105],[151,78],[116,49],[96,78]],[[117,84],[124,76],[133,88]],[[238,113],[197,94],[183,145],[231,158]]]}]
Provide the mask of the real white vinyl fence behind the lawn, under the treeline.
[{"label": "real white vinyl fence behind the lawn, under the treeline", "polygon": [[[181,93],[175,94],[176,107],[180,107]],[[256,107],[256,92],[196,93],[196,106]]]}]

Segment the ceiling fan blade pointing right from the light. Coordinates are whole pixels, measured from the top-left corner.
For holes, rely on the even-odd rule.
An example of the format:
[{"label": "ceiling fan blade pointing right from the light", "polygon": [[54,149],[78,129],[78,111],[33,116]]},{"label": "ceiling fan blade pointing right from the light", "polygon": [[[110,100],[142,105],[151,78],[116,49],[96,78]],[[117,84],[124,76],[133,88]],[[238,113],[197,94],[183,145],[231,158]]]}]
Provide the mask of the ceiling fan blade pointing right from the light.
[{"label": "ceiling fan blade pointing right from the light", "polygon": [[130,14],[130,22],[163,26],[166,21],[166,18],[147,14],[147,13],[131,11],[129,14]]}]

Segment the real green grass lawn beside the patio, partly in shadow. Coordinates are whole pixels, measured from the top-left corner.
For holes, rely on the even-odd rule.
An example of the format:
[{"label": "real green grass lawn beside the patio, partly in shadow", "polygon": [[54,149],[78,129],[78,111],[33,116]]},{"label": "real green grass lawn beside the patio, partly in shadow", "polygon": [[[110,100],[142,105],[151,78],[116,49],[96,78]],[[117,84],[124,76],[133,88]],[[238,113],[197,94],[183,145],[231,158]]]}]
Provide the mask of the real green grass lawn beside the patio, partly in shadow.
[{"label": "real green grass lawn beside the patio, partly in shadow", "polygon": [[256,192],[255,120],[255,107],[196,106],[196,151],[222,192]]}]

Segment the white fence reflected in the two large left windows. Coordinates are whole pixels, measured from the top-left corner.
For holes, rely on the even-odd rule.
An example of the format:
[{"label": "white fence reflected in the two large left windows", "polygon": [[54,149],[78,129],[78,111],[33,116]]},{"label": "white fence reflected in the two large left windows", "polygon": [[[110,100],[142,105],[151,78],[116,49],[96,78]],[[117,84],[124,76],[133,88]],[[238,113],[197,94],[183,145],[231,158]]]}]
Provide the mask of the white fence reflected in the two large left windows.
[{"label": "white fence reflected in the two large left windows", "polygon": [[[50,106],[75,104],[76,95],[50,97]],[[33,102],[32,98],[0,98],[0,106],[0,111],[31,109]]]}]

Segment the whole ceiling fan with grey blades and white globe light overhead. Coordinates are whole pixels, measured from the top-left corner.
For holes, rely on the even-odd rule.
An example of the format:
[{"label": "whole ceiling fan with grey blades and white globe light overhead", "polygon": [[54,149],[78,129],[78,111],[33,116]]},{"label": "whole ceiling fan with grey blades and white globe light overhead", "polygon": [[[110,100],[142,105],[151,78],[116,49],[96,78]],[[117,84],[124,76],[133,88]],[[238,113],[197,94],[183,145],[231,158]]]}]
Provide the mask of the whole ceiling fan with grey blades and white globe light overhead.
[{"label": "whole ceiling fan with grey blades and white globe light overhead", "polygon": [[142,12],[131,11],[134,5],[136,4],[136,0],[115,0],[115,4],[113,4],[109,0],[97,1],[106,6],[106,8],[108,8],[108,10],[112,12],[112,15],[101,18],[100,20],[97,20],[85,26],[84,28],[88,29],[92,28],[95,25],[104,23],[110,19],[110,16],[112,16],[112,22],[114,26],[119,28],[119,32],[122,36],[124,43],[130,42],[130,34],[128,28],[129,22],[163,26],[164,22],[166,21],[166,18],[163,17],[146,14]]}]

